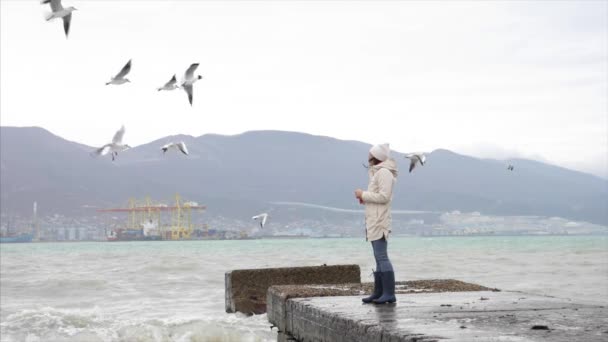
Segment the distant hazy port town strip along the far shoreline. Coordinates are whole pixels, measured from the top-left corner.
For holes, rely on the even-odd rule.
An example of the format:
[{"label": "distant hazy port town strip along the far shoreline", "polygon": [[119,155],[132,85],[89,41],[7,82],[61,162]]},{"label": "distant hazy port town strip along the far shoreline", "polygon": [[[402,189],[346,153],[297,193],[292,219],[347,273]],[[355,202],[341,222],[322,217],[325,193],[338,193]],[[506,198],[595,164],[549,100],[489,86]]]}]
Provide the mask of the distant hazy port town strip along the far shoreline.
[{"label": "distant hazy port town strip along the far shoreline", "polygon": [[[414,216],[412,218],[412,216]],[[419,217],[416,217],[419,216]],[[281,221],[271,218],[264,230],[249,217],[233,218],[201,213],[193,218],[191,232],[179,240],[233,240],[260,238],[349,238],[362,237],[363,214],[332,214],[319,212],[317,217]],[[113,241],[112,231],[126,227],[129,217],[124,214],[66,216],[59,213],[34,217],[2,213],[2,237],[31,236],[32,241]],[[160,225],[168,225],[161,222]],[[604,226],[576,222],[559,217],[492,216],[479,212],[452,211],[441,214],[394,215],[395,236],[501,236],[501,235],[588,235],[608,234]],[[143,231],[146,222],[133,225]],[[131,228],[131,227],[130,227]],[[155,227],[153,227],[155,228]]]}]

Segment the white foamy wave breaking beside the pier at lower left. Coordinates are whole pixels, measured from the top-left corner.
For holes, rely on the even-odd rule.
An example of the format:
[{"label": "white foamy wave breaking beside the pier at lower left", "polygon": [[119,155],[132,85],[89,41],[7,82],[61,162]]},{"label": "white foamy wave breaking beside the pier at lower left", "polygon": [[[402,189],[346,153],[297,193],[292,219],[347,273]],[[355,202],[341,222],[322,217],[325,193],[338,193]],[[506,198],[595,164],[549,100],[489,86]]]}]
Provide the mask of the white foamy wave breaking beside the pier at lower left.
[{"label": "white foamy wave breaking beside the pier at lower left", "polygon": [[269,342],[276,333],[266,316],[226,315],[220,319],[116,319],[99,307],[67,310],[43,307],[8,315],[0,324],[1,340],[132,342]]}]

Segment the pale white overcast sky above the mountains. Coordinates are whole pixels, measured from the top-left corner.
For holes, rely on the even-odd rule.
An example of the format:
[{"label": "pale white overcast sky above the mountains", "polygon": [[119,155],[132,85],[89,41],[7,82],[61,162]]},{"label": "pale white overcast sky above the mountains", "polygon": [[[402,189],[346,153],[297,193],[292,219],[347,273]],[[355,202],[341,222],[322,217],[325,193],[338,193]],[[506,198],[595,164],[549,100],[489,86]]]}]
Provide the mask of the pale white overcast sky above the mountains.
[{"label": "pale white overcast sky above the mountains", "polygon": [[[607,1],[94,1],[69,39],[36,0],[0,0],[0,123],[88,145],[125,124],[278,129],[527,157],[608,177]],[[132,83],[105,86],[128,59]],[[157,92],[200,63],[194,106]]]}]

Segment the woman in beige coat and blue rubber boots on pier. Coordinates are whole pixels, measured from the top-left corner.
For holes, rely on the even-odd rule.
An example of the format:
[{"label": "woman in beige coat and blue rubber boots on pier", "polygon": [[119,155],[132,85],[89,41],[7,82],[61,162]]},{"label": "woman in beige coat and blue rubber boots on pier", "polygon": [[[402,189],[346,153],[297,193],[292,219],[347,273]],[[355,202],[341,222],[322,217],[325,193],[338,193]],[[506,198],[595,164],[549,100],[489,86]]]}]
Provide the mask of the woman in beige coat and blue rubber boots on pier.
[{"label": "woman in beige coat and blue rubber boots on pier", "polygon": [[395,273],[388,259],[388,235],[391,232],[391,202],[397,180],[397,163],[390,158],[388,144],[376,145],[369,150],[369,185],[367,191],[355,190],[359,203],[365,205],[365,234],[371,241],[376,259],[374,293],[363,298],[364,303],[394,303]]}]

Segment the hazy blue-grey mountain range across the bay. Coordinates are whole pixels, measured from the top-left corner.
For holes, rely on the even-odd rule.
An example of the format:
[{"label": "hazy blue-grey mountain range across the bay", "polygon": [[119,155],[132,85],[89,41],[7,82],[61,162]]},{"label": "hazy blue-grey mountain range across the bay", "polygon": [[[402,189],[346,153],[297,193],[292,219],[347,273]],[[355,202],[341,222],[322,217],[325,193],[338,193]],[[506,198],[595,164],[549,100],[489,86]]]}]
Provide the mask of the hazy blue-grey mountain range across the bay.
[{"label": "hazy blue-grey mountain range across the bay", "polygon": [[[190,155],[160,147],[183,140]],[[361,209],[356,188],[367,185],[369,144],[295,132],[253,131],[234,136],[169,136],[109,157],[38,127],[0,127],[0,209],[87,215],[91,208],[125,206],[129,198],[170,199],[175,193],[214,215],[243,216],[275,202]],[[176,151],[173,151],[176,152]],[[608,225],[608,180],[534,160],[479,159],[438,149],[400,175],[394,209],[491,215],[558,216]],[[514,165],[508,171],[507,165]]]}]

